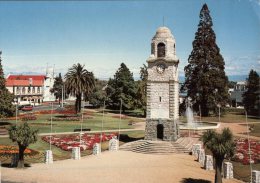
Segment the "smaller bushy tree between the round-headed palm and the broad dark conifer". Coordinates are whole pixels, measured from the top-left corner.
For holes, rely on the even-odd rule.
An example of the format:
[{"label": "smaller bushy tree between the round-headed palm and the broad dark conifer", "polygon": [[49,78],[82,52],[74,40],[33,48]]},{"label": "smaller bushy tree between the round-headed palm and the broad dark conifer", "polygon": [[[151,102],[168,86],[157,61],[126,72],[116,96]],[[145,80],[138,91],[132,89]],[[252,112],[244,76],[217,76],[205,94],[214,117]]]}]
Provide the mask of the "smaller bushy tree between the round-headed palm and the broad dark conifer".
[{"label": "smaller bushy tree between the round-headed palm and the broad dark conifer", "polygon": [[94,105],[95,107],[103,106],[103,103],[106,100],[106,85],[107,81],[96,79],[96,86],[93,89],[93,92],[87,97],[87,100],[90,104]]}]

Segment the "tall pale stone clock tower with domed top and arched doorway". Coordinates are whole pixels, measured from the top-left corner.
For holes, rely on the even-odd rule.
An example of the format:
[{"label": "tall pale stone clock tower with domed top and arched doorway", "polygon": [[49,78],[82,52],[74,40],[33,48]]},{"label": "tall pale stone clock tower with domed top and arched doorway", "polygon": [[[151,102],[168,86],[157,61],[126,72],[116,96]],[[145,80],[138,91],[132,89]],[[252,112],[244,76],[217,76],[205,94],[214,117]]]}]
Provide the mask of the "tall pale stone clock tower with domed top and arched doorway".
[{"label": "tall pale stone clock tower with domed top and arched doorway", "polygon": [[179,120],[179,59],[175,39],[167,27],[159,27],[147,59],[146,140],[176,140]]}]

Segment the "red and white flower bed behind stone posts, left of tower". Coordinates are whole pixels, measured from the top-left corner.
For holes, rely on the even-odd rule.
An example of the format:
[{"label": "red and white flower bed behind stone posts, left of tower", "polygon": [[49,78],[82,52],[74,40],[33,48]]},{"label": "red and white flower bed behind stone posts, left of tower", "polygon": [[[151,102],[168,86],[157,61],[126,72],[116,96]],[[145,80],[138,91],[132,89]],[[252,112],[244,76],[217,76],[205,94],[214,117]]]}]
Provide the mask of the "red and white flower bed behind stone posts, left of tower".
[{"label": "red and white flower bed behind stone posts, left of tower", "polygon": [[73,147],[80,147],[80,150],[92,149],[95,143],[109,141],[114,136],[117,136],[117,133],[110,133],[110,134],[102,134],[102,139],[100,139],[100,134],[82,134],[81,136],[81,143],[80,143],[80,136],[79,135],[65,135],[65,136],[43,136],[42,139],[61,148],[64,151],[71,151]]}]

